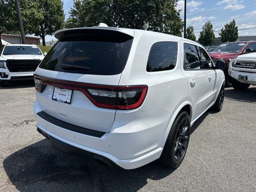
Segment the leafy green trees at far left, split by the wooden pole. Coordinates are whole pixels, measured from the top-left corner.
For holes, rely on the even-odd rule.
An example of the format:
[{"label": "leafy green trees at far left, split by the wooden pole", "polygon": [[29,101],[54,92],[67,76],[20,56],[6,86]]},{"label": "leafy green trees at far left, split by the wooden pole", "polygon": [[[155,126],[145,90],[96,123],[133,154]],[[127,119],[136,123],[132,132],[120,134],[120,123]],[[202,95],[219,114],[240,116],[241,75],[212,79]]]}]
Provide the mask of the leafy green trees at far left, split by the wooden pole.
[{"label": "leafy green trees at far left, split by the wooden pole", "polygon": [[[26,34],[45,36],[63,28],[65,14],[61,0],[20,0],[20,12]],[[0,34],[19,34],[15,0],[0,0]],[[1,46],[2,43],[0,43]]]}]

